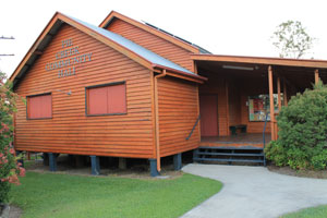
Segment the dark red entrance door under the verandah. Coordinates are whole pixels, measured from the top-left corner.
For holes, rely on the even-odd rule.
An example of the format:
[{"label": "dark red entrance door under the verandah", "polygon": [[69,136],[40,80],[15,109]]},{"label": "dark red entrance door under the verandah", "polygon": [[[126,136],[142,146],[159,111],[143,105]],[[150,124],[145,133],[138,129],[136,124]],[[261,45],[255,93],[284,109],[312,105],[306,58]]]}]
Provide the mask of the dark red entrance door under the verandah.
[{"label": "dark red entrance door under the verandah", "polygon": [[201,136],[218,135],[218,96],[199,95]]}]

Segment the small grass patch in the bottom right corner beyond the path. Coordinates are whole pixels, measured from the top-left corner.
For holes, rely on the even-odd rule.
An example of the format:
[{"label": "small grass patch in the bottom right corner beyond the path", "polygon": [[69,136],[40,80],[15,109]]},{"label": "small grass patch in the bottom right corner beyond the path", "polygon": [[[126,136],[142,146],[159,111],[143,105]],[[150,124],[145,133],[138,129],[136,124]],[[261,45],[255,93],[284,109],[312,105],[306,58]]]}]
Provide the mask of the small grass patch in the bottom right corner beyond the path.
[{"label": "small grass patch in the bottom right corner beyond the path", "polygon": [[281,218],[326,218],[326,217],[327,217],[327,205],[301,209],[299,211],[281,216]]}]

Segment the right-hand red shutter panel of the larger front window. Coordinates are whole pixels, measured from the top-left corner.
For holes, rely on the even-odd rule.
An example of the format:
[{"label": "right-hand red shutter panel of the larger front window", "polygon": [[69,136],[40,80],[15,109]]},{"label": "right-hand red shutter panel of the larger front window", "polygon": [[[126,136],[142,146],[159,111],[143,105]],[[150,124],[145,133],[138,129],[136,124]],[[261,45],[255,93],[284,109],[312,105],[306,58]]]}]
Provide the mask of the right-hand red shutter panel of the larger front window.
[{"label": "right-hand red shutter panel of the larger front window", "polygon": [[108,113],[126,112],[125,84],[108,86]]}]

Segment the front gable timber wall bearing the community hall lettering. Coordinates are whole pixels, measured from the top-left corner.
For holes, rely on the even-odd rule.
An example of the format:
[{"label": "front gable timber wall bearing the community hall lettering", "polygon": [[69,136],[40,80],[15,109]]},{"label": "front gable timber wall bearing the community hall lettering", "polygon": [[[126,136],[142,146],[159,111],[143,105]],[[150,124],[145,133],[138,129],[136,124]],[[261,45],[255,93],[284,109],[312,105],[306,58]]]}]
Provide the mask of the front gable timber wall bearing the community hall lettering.
[{"label": "front gable timber wall bearing the community hall lettering", "polygon": [[[80,53],[92,52],[92,61],[75,65],[76,75],[58,77],[47,63],[71,38]],[[36,60],[15,92],[22,96],[52,93],[52,119],[26,120],[26,107],[19,104],[15,148],[17,150],[80,155],[154,158],[150,71],[128,57],[63,25],[43,56]],[[128,113],[87,117],[85,87],[113,82],[126,84]],[[62,92],[72,92],[69,96]]]}]

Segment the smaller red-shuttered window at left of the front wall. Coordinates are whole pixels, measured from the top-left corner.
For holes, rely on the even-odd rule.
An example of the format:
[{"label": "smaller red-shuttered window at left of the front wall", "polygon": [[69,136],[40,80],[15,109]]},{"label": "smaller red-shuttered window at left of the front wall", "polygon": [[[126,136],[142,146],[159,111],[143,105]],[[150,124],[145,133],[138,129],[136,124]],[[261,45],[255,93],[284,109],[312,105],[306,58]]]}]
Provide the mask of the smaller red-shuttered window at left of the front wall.
[{"label": "smaller red-shuttered window at left of the front wall", "polygon": [[27,118],[28,119],[52,118],[51,94],[27,96]]}]

